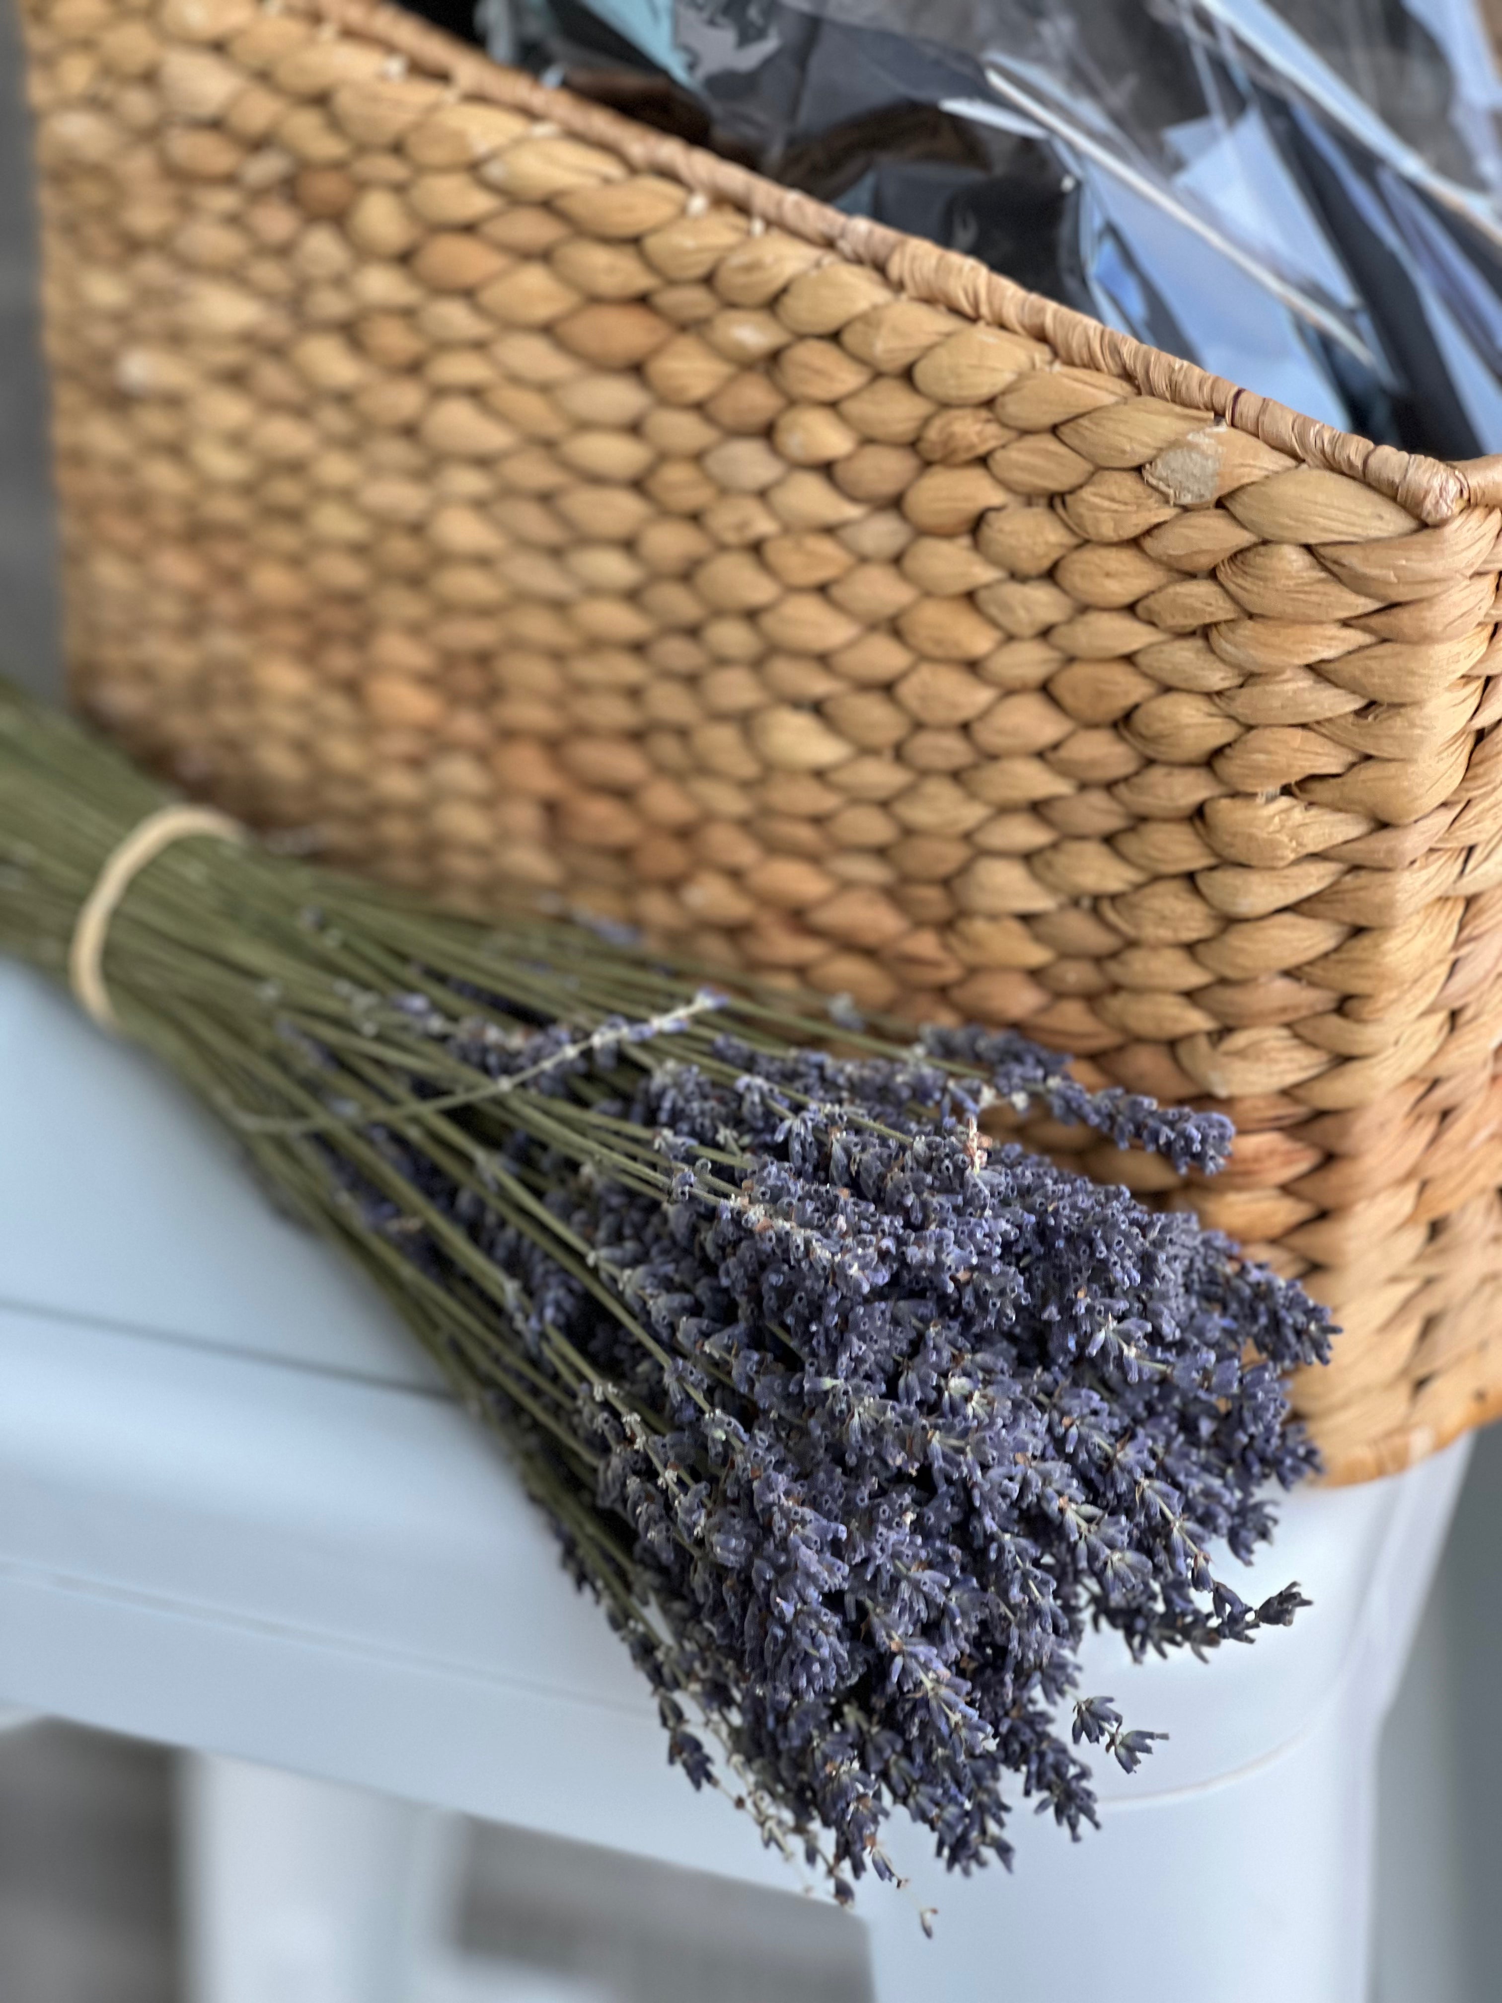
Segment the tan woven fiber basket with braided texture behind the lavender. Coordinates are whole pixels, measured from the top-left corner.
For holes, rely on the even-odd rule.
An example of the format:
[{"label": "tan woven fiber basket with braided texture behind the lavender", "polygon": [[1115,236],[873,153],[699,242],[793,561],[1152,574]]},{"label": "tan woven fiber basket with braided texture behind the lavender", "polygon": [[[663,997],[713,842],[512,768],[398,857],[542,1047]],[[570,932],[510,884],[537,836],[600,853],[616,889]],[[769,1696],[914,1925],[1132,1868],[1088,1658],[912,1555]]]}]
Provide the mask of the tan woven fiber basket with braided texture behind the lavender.
[{"label": "tan woven fiber basket with braided texture behind the lavender", "polygon": [[1224,1106],[1332,1474],[1502,1410],[1502,467],[366,0],[26,0],[80,701],[192,791]]}]

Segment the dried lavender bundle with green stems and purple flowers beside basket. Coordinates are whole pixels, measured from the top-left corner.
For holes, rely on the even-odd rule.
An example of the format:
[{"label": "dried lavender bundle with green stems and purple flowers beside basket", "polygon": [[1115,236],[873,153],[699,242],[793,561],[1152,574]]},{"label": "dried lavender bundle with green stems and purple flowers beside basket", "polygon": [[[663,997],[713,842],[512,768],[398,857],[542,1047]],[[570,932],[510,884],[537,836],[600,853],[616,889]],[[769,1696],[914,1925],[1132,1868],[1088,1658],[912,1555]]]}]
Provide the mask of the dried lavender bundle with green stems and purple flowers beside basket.
[{"label": "dried lavender bundle with green stems and purple flowers beside basket", "polygon": [[[164,797],[0,693],[0,947],[64,969]],[[1077,1697],[1087,1622],[1206,1650],[1302,1604],[1248,1606],[1210,1546],[1248,1558],[1314,1466],[1284,1372],[1324,1310],[981,1130],[1047,1108],[1214,1172],[1222,1118],[202,835],[98,971],[507,1438],[669,1757],[839,1897],[895,1805],[959,1869],[1009,1859],[1013,1793],[1093,1821],[1069,1739],[1132,1769],[1154,1735]]]}]

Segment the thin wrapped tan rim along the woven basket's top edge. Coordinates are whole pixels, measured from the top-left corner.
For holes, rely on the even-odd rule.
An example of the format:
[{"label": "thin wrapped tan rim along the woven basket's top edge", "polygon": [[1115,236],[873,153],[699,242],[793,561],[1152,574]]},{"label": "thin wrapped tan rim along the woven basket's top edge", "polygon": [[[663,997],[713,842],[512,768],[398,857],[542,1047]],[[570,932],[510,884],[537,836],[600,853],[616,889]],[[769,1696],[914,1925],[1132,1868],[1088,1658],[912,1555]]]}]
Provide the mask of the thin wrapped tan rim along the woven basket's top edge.
[{"label": "thin wrapped tan rim along the woven basket's top edge", "polygon": [[657,132],[555,84],[543,84],[389,0],[280,0],[280,4],[336,30],[385,42],[393,54],[431,76],[445,78],[457,90],[605,146],[639,172],[665,174],[691,194],[729,202],[769,226],[823,246],[833,256],[867,264],[907,298],[1041,341],[1069,367],[1115,377],[1142,395],[1176,403],[1180,409],[1202,409],[1210,419],[1286,453],[1304,467],[1360,481],[1396,501],[1424,527],[1440,527],[1468,509],[1502,507],[1502,453],[1450,463],[1338,431],[1334,425],[1290,411],[1272,397],[1260,397],[1226,377],[1210,375],[1196,363],[1121,335],[1073,306],[1029,292],[979,258],[945,250],[867,216],[847,216],[811,194],[785,188],[703,146]]}]

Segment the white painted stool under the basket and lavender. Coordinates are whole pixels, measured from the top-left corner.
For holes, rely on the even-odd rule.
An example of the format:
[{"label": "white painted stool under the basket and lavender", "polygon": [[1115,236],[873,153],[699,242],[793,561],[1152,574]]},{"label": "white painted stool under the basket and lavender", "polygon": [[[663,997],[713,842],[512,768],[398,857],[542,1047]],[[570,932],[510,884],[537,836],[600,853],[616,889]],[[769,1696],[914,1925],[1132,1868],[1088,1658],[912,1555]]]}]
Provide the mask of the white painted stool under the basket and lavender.
[{"label": "white painted stool under the basket and lavender", "polygon": [[[1208,1668],[1093,1640],[1085,1687],[1172,1739],[1101,1773],[1081,1845],[1023,1805],[1015,1875],[951,1881],[893,1823],[915,1899],[861,1895],[881,2003],[1364,2003],[1376,1735],[1462,1468],[1290,1500],[1244,1588],[1300,1578],[1288,1632]],[[150,1062],[0,965],[6,1705],[393,1797],[202,1769],[194,2003],[409,2003],[403,1805],[799,1889],[667,1769],[625,1652],[387,1308]],[[324,1931],[276,1937],[312,1957],[294,1989],[250,1945],[298,1897]]]}]

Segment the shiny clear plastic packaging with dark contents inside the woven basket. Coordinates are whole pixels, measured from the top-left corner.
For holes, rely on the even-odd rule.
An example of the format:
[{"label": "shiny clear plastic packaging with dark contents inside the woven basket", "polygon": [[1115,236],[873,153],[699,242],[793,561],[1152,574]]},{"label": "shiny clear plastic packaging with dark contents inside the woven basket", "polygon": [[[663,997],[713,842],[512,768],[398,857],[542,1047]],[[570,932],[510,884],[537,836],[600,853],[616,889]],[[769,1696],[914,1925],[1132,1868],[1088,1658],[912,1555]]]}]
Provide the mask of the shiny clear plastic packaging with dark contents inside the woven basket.
[{"label": "shiny clear plastic packaging with dark contents inside the woven basket", "polygon": [[1466,459],[1502,449],[1502,82],[1482,4],[481,0],[481,14],[505,60],[1310,417]]}]

